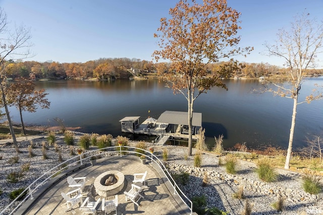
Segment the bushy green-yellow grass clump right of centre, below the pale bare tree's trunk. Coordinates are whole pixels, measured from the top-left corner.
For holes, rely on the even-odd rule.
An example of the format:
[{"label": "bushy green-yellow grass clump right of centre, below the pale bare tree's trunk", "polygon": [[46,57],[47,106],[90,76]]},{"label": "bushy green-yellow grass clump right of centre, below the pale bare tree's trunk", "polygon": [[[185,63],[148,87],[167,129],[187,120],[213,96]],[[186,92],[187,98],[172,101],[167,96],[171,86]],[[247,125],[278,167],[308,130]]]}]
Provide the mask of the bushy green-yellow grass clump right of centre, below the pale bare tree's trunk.
[{"label": "bushy green-yellow grass clump right of centre, below the pale bare tree's trunk", "polygon": [[256,173],[258,177],[265,182],[277,180],[278,174],[275,171],[275,163],[268,157],[263,157],[256,162]]}]

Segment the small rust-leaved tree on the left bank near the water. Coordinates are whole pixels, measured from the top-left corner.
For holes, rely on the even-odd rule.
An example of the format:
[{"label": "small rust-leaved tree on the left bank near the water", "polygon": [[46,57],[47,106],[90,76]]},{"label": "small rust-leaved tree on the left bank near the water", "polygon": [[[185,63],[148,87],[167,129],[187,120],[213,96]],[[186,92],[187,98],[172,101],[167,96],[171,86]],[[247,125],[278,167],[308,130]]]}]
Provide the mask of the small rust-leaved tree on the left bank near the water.
[{"label": "small rust-leaved tree on the left bank near the water", "polygon": [[[31,80],[35,77],[31,76]],[[22,111],[36,112],[38,106],[49,108],[50,102],[45,99],[48,95],[44,89],[35,91],[35,84],[29,79],[20,78],[11,84],[7,89],[7,100],[10,106],[15,106],[20,113],[22,134],[25,133],[25,125],[22,118]]]}]

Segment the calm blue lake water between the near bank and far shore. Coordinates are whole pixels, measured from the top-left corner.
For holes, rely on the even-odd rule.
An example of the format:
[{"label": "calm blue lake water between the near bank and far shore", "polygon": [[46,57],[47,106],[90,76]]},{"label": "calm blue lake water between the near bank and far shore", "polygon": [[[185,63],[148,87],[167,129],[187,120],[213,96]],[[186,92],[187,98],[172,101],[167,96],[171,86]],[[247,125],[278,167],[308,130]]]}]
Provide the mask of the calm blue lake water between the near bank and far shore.
[{"label": "calm blue lake water between the near bank and far shore", "polygon": [[[194,112],[202,113],[207,144],[213,146],[214,136],[224,134],[225,148],[246,142],[248,148],[272,145],[286,149],[293,100],[274,97],[271,93],[252,93],[253,89],[261,88],[257,80],[225,80],[225,83],[228,91],[213,88],[194,103]],[[308,95],[314,84],[323,85],[323,78],[307,79],[302,84],[300,97]],[[141,116],[141,123],[148,116],[158,118],[166,110],[187,111],[184,96],[174,95],[159,80],[39,81],[36,88],[44,88],[49,94],[46,98],[51,102],[50,109],[24,112],[26,124],[56,126],[53,118],[59,117],[66,126],[80,126],[81,132],[151,141],[153,138],[149,136],[122,133],[119,120],[125,116]],[[323,100],[298,106],[295,148],[303,146],[306,137],[323,135],[322,107]],[[12,119],[20,122],[19,112],[15,108],[10,111]]]}]

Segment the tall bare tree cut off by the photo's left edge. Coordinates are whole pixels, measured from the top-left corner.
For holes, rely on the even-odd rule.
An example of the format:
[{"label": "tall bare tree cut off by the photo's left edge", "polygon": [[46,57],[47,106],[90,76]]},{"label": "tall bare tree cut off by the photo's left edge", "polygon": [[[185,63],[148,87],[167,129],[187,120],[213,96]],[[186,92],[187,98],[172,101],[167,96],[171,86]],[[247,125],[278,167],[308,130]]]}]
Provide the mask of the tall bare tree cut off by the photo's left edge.
[{"label": "tall bare tree cut off by the photo's left edge", "polygon": [[2,8],[0,8],[0,34],[2,35],[0,38],[0,93],[2,105],[5,107],[10,132],[13,137],[13,144],[16,151],[19,152],[15,131],[8,110],[6,65],[10,59],[22,59],[30,56],[28,48],[32,45],[30,43],[31,35],[30,29],[25,26],[16,26],[14,30],[10,30],[7,15]]}]

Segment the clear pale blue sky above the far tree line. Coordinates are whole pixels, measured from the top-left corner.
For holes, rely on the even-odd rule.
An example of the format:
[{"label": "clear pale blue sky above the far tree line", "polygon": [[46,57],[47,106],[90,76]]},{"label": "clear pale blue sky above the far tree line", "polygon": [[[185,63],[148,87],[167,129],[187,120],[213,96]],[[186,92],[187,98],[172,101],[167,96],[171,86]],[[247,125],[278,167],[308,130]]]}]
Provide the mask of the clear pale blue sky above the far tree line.
[{"label": "clear pale blue sky above the far tree line", "polygon": [[[264,54],[279,29],[289,29],[304,11],[323,20],[323,0],[227,0],[241,13],[241,47],[253,46],[248,63],[283,66],[283,60]],[[176,0],[0,0],[10,25],[31,28],[34,57],[39,62],[86,62],[99,58],[152,60],[158,49],[153,37],[160,18],[169,16]],[[225,59],[224,59],[225,60]],[[320,67],[323,66],[321,59]]]}]

